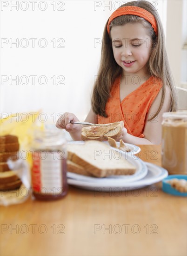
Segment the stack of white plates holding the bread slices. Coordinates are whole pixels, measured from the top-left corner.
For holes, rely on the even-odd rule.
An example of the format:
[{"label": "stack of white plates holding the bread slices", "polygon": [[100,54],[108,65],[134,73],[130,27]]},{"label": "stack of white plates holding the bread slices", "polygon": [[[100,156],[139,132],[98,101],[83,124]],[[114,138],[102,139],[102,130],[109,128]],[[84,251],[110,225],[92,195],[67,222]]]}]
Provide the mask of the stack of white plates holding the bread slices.
[{"label": "stack of white plates holding the bread slices", "polygon": [[[72,141],[69,143],[83,144],[84,141]],[[117,145],[118,143],[119,142],[117,142]],[[125,191],[130,189],[140,189],[153,183],[160,182],[167,177],[167,170],[157,165],[143,162],[138,157],[137,154],[140,152],[139,147],[128,143],[126,143],[126,145],[131,151],[120,151],[129,162],[136,166],[137,171],[134,175],[112,175],[105,178],[97,178],[67,172],[68,184],[88,190],[104,188],[105,191],[111,191],[111,189],[119,188],[121,191]],[[116,150],[116,148],[114,149]]]}]

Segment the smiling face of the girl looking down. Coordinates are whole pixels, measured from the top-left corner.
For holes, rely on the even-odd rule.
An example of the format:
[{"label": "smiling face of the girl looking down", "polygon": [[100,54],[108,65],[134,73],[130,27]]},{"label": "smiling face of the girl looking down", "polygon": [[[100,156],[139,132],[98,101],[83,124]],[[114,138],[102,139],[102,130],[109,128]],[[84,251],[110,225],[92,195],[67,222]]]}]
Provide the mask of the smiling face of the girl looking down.
[{"label": "smiling face of the girl looking down", "polygon": [[123,75],[147,75],[146,63],[151,52],[151,38],[141,23],[112,27],[114,59]]}]

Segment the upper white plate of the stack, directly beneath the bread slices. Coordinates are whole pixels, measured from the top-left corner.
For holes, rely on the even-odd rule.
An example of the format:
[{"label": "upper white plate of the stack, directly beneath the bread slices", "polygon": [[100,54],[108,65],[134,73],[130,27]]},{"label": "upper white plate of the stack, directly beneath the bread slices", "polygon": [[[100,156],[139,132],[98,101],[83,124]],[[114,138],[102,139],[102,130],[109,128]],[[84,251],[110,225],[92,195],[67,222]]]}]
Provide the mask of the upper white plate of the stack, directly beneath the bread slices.
[{"label": "upper white plate of the stack, directly beneath the bread slices", "polygon": [[136,167],[135,174],[132,175],[111,175],[109,177],[97,178],[97,177],[89,177],[85,175],[80,175],[72,172],[67,172],[67,178],[71,178],[78,181],[84,182],[94,182],[98,185],[100,184],[111,184],[115,185],[123,185],[125,183],[134,182],[142,179],[147,175],[147,166],[140,159],[133,159],[130,155],[128,156],[128,161],[131,162]]}]

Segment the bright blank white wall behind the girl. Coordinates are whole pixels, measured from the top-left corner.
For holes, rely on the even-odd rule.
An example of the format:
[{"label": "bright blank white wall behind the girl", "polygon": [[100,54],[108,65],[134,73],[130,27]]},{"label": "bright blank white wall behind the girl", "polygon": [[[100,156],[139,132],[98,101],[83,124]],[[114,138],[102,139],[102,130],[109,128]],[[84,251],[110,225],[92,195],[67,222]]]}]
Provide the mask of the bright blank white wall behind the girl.
[{"label": "bright blank white wall behind the girl", "polygon": [[[0,1],[0,111],[41,110],[48,118],[55,116],[55,120],[59,113],[73,112],[84,120],[99,67],[103,28],[110,14],[127,1],[33,2]],[[166,30],[163,7],[167,1],[151,2],[158,8]],[[170,2],[172,5],[174,1]],[[17,44],[12,44],[16,40]],[[42,47],[45,42],[47,47]],[[30,76],[36,76],[35,81]],[[18,81],[11,81],[16,77]]]}]

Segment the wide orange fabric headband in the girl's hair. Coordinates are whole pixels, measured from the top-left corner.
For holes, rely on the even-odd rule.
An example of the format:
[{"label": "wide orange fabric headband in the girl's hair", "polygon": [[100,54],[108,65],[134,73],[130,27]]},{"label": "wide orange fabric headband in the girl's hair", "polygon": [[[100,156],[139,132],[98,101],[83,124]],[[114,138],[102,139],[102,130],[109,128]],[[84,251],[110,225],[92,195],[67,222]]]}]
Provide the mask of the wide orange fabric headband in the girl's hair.
[{"label": "wide orange fabric headband in the girl's hair", "polygon": [[107,25],[107,31],[108,34],[110,34],[110,23],[112,20],[115,18],[122,16],[122,15],[136,15],[140,16],[141,18],[144,18],[145,20],[149,21],[151,23],[152,27],[154,28],[154,32],[156,35],[158,35],[158,30],[157,30],[157,25],[156,25],[156,20],[153,16],[153,14],[149,13],[147,10],[136,7],[136,6],[124,6],[119,9],[117,9],[112,15],[110,16],[108,20],[108,25]]}]

